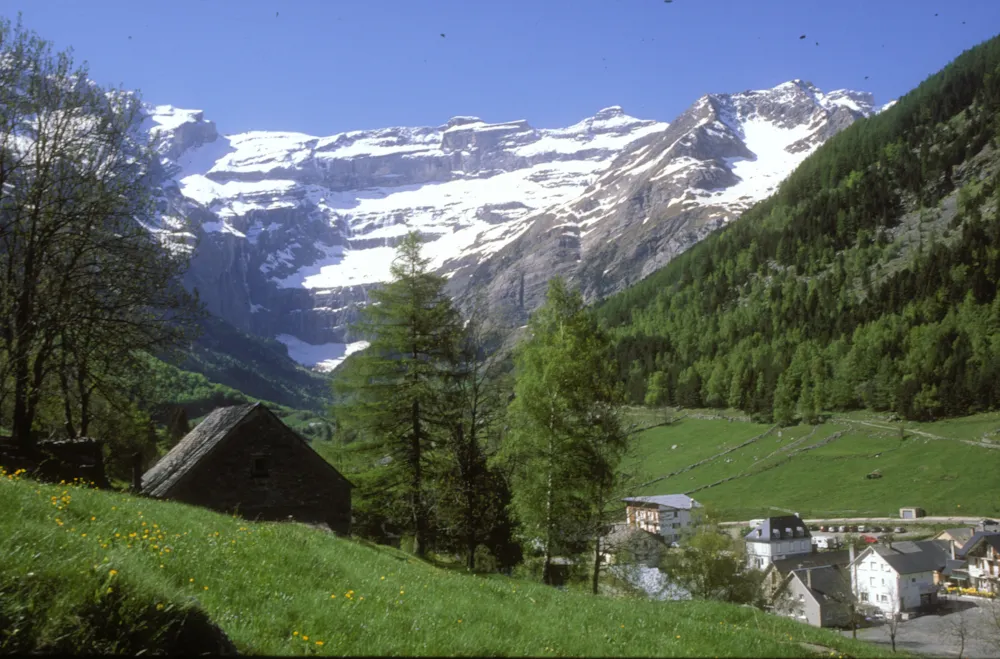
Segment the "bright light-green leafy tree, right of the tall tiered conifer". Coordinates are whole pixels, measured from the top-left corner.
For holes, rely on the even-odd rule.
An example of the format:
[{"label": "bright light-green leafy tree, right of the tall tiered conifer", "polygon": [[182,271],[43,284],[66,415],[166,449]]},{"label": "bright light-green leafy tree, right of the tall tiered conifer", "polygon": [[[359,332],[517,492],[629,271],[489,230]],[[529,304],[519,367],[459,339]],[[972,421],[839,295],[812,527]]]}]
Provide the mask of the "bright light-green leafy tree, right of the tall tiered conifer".
[{"label": "bright light-green leafy tree, right of the tall tiered conifer", "polygon": [[541,547],[545,583],[553,558],[581,553],[603,512],[598,495],[612,489],[627,442],[622,398],[607,336],[579,292],[553,278],[516,349],[510,429],[497,456],[509,465],[524,540]]}]

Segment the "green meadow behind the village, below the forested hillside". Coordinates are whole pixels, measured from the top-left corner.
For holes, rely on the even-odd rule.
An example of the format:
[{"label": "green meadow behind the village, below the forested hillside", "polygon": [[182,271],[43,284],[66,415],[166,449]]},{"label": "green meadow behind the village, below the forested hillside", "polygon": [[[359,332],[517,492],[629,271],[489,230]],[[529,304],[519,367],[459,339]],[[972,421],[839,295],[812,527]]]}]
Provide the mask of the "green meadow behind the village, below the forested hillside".
[{"label": "green meadow behind the village, below the forested hillside", "polygon": [[[989,486],[1000,473],[1000,449],[960,441],[995,437],[989,433],[1000,426],[1000,414],[905,426],[911,432],[903,441],[898,424],[864,412],[838,415],[815,429],[784,428],[780,438],[772,432],[724,457],[650,484],[642,493],[688,492],[745,472],[749,475],[692,496],[713,504],[730,519],[781,510],[803,515],[897,515],[907,505],[921,506],[929,515],[1000,514],[1000,501]],[[641,433],[637,459],[648,481],[734,447],[769,427],[686,418]],[[787,459],[788,453],[815,446],[837,432],[844,434]],[[802,442],[796,443],[799,439]],[[677,448],[671,449],[673,445]],[[881,470],[882,478],[866,479],[875,469]]]}]

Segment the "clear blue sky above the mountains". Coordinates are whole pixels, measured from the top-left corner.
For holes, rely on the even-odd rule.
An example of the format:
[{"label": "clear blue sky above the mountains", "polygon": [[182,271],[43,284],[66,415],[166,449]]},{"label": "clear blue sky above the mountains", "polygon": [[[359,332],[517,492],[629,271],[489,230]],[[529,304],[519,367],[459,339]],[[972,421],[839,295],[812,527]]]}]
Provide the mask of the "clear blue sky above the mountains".
[{"label": "clear blue sky above the mountains", "polygon": [[670,121],[793,78],[883,103],[1000,30],[1000,0],[0,0],[19,10],[101,83],[224,133],[318,135],[609,105]]}]

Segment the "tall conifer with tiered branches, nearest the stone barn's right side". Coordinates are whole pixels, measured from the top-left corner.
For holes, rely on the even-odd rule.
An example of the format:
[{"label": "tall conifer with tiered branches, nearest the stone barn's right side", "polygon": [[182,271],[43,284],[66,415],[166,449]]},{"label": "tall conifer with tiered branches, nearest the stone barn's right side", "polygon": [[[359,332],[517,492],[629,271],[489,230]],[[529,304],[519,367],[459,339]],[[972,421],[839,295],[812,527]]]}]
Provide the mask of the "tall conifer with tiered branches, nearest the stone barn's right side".
[{"label": "tall conifer with tiered branches, nearest the stone barn's right side", "polygon": [[369,347],[334,381],[333,414],[384,460],[384,494],[398,494],[403,527],[423,556],[431,527],[428,475],[435,449],[454,421],[451,390],[462,376],[461,316],[445,279],[428,269],[411,232],[397,248],[391,280],[371,292],[355,330]]}]

